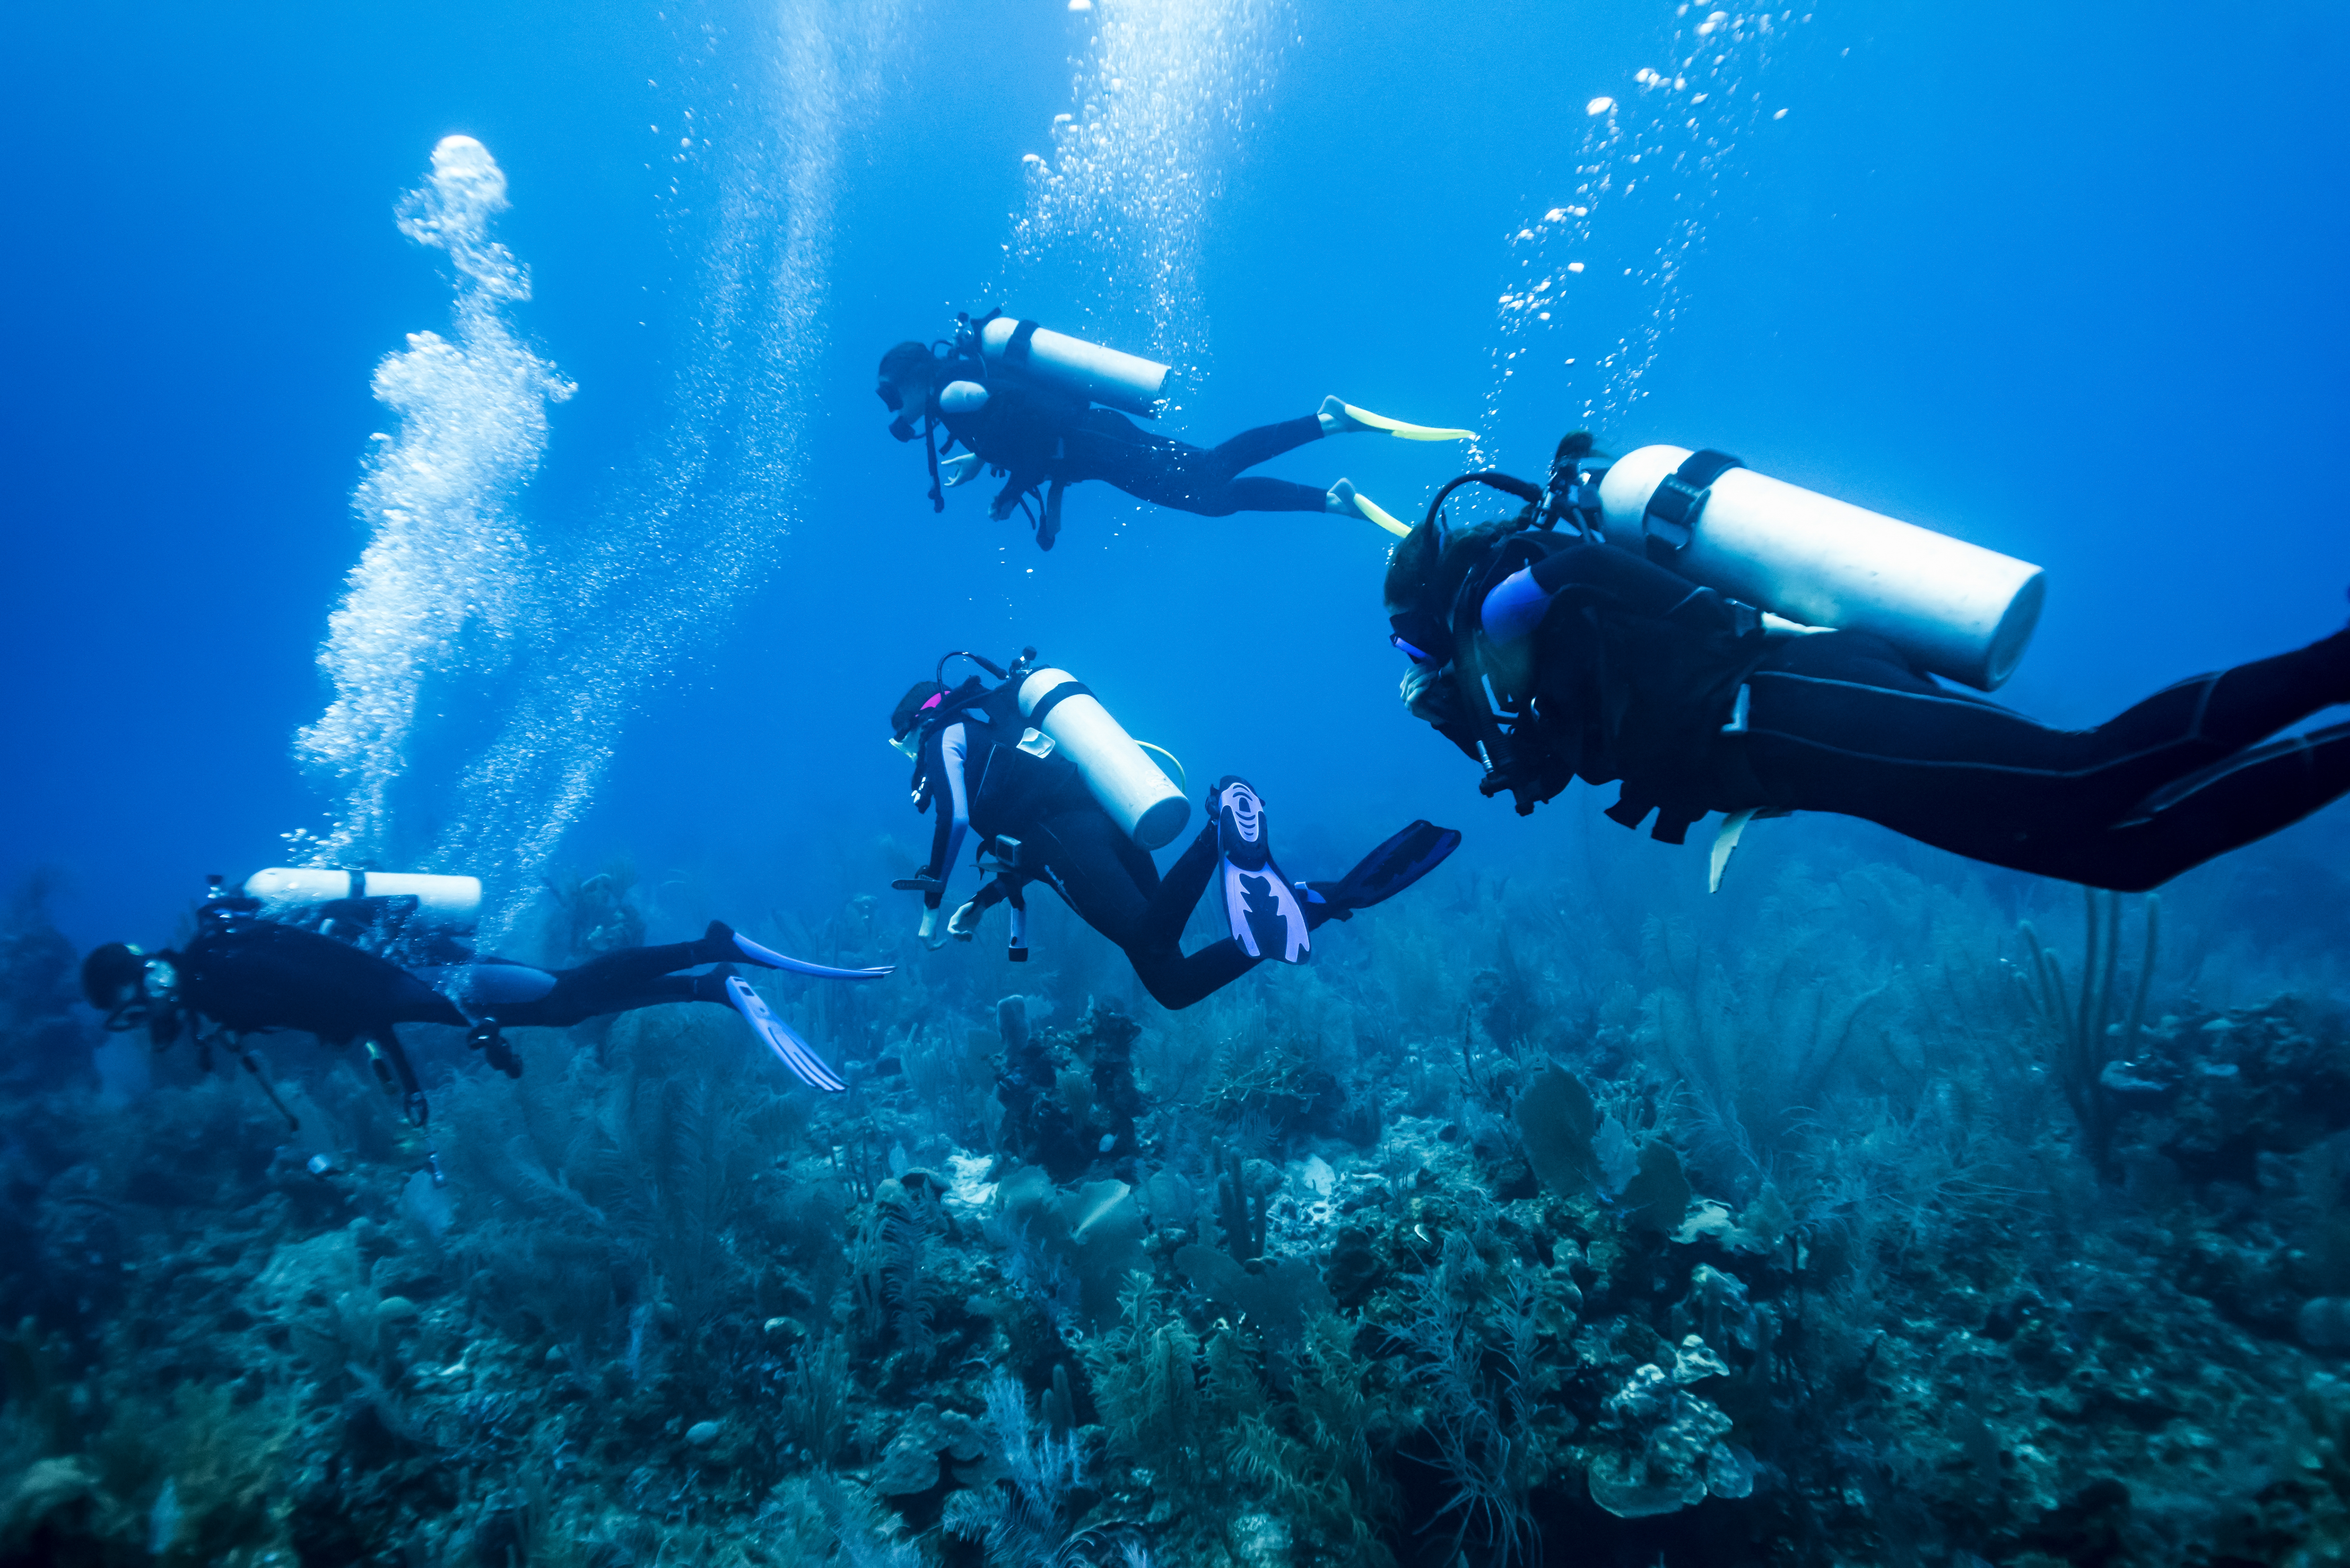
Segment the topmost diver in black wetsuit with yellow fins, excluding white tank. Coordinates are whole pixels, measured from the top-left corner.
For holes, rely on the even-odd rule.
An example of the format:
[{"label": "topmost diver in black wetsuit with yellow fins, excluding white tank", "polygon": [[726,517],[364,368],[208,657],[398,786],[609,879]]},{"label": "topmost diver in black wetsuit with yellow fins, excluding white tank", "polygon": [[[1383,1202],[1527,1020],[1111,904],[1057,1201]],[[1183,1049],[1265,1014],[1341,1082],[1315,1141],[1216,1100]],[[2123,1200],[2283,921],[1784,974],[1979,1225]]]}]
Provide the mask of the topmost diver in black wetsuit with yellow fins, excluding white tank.
[{"label": "topmost diver in black wetsuit with yellow fins, excluding white tank", "polygon": [[1368,414],[1337,397],[1325,397],[1318,414],[1288,418],[1278,425],[1243,430],[1220,447],[1191,447],[1166,435],[1152,435],[1112,409],[1097,409],[1081,395],[1039,378],[1020,378],[968,350],[952,348],[938,357],[924,343],[898,343],[881,355],[881,402],[888,404],[891,433],[900,440],[928,430],[947,433],[947,447],[961,442],[968,451],[945,463],[933,451],[933,508],[945,510],[940,487],[964,484],[980,468],[1008,475],[987,515],[1003,522],[1034,491],[1043,491],[1036,520],[1036,545],[1053,548],[1060,531],[1060,496],[1069,484],[1102,480],[1137,501],[1166,505],[1198,517],[1231,512],[1330,512],[1361,517],[1403,534],[1403,524],[1379,510],[1368,496],[1340,480],[1330,489],[1246,475],[1246,468],[1295,451],[1307,442],[1344,433],[1384,433],[1405,440],[1462,440],[1469,430],[1434,430]]}]

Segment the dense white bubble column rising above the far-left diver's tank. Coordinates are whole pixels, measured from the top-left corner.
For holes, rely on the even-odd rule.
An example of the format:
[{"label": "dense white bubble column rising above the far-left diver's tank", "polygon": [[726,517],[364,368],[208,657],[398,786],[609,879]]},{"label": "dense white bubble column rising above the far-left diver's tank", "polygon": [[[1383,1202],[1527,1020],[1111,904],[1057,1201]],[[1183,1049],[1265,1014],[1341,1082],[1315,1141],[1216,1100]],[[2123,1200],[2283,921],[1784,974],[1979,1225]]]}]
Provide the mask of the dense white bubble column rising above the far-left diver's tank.
[{"label": "dense white bubble column rising above the far-left diver's tank", "polygon": [[545,451],[548,404],[573,386],[515,336],[531,275],[489,237],[505,207],[489,148],[444,136],[425,186],[395,209],[400,233],[456,266],[454,320],[449,339],[409,334],[376,367],[376,400],[400,423],[374,437],[352,494],[367,545],[317,654],[334,698],[294,741],[341,792],[327,835],[289,835],[308,839],[313,865],[388,849],[425,684],[503,663],[529,611],[531,545],[512,501]]}]

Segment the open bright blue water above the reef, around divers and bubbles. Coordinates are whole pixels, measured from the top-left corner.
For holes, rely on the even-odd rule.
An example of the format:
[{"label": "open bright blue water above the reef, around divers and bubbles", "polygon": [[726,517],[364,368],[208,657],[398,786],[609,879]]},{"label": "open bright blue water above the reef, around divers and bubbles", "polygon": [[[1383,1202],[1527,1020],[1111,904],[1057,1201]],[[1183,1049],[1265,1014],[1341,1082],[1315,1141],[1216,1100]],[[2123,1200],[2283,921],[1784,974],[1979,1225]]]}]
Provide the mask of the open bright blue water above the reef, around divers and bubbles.
[{"label": "open bright blue water above the reef, around divers and bubbles", "polygon": [[[935,651],[1025,642],[1187,762],[1250,769],[1292,823],[1351,830],[1377,778],[1471,827],[1471,856],[1549,844],[1556,823],[1530,835],[1469,797],[1462,764],[1394,712],[1375,531],[1152,515],[1095,489],[1039,557],[971,494],[928,512],[870,367],[954,308],[1010,301],[1170,350],[1198,440],[1335,390],[1480,423],[1492,461],[1532,470],[1603,390],[1593,360],[1664,303],[1607,277],[1671,240],[1659,195],[1697,242],[1638,402],[1603,440],[1725,447],[2042,562],[2052,607],[2007,693],[2026,710],[2087,722],[2341,618],[2350,571],[2322,480],[2341,440],[2322,92],[2341,40],[2315,9],[2225,28],[2186,9],[1781,21],[1767,47],[1739,45],[1741,94],[1760,99],[1734,136],[1725,94],[1694,108],[1732,146],[1704,176],[1600,205],[1567,308],[1523,334],[1495,308],[1525,254],[1509,237],[1584,183],[1593,96],[1622,99],[1633,129],[1676,125],[1633,73],[1671,63],[1673,28],[1701,12],[1208,7],[1222,54],[1128,45],[1201,63],[1180,113],[1114,127],[1109,153],[1137,190],[1144,158],[1180,160],[1201,195],[1144,190],[1114,233],[1006,261],[1032,207],[1022,155],[1053,153],[1053,115],[1081,108],[1104,16],[16,19],[9,115],[38,150],[7,259],[26,306],[5,393],[9,733],[26,748],[5,780],[7,872],[66,867],[59,910],[94,940],[153,929],[195,872],[331,830],[343,802],[289,743],[324,708],[315,654],[367,543],[352,489],[392,423],[369,376],[404,334],[449,331],[446,256],[390,209],[451,132],[510,181],[494,235],[533,289],[512,331],[578,383],[512,517],[573,571],[592,541],[618,541],[625,569],[658,550],[642,517],[674,491],[693,512],[674,538],[686,574],[724,578],[707,604],[665,583],[667,625],[588,698],[611,764],[566,816],[557,853],[576,860],[625,849],[714,893],[787,896],[820,875],[818,844],[909,825],[879,745],[891,696]],[[712,252],[728,202],[806,228],[787,275],[728,273],[773,266],[743,240]],[[1154,263],[1182,273],[1156,301],[1137,282]],[[806,313],[790,360],[714,355],[721,308],[752,334]],[[1511,350],[1520,374],[1497,393]],[[1560,369],[1570,355],[1586,374]],[[766,421],[764,473],[728,451],[745,418]],[[682,473],[691,442],[717,461]],[[1332,444],[1271,473],[1344,470],[1410,515],[1445,463]],[[634,611],[613,595],[599,614]],[[517,689],[437,684],[388,851],[465,816],[451,778]],[[533,816],[557,785],[526,790]],[[2319,853],[2329,832],[2294,842]]]}]

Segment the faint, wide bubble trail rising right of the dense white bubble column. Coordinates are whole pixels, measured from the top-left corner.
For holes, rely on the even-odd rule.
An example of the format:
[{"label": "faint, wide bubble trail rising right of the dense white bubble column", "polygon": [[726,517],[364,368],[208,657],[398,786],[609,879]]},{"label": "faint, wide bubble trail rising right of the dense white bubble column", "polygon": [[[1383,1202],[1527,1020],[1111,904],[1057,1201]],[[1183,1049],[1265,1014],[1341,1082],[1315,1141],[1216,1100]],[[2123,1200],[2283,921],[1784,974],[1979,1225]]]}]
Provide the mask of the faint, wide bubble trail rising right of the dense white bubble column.
[{"label": "faint, wide bubble trail rising right of the dense white bubble column", "polygon": [[710,228],[682,233],[703,256],[700,303],[667,437],[559,552],[526,679],[432,851],[484,877],[505,919],[595,804],[644,693],[780,562],[830,343],[841,136],[879,96],[902,21],[895,0],[785,0],[728,71],[740,92],[689,115],[717,143],[717,195]]}]

